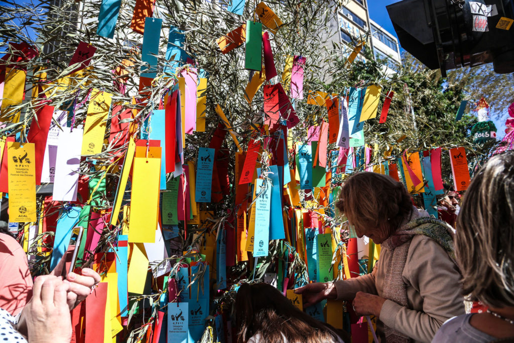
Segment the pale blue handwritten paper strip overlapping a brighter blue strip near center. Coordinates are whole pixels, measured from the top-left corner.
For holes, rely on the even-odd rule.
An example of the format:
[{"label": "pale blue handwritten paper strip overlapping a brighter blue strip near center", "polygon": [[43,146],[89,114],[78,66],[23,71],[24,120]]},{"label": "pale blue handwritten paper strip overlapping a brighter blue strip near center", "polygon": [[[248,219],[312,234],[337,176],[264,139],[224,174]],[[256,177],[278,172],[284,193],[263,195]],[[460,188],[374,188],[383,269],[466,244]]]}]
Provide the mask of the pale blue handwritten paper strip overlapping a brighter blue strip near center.
[{"label": "pale blue handwritten paper strip overlapping a brighter blue strip near center", "polygon": [[[264,187],[262,187],[264,186]],[[253,238],[253,256],[268,256],[269,248],[269,218],[271,207],[271,183],[261,178],[256,179],[256,194],[260,194],[255,201],[255,233]]]}]

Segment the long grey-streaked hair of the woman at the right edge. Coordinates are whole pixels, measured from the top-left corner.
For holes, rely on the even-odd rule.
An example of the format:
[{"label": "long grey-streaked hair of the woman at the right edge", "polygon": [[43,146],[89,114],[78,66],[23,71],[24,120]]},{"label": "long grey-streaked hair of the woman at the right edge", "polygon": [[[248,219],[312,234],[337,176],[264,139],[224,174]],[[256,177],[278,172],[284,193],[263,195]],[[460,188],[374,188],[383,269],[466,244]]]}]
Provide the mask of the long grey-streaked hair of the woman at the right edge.
[{"label": "long grey-streaked hair of the woman at the right edge", "polygon": [[457,217],[455,254],[463,294],[514,306],[514,152],[496,155],[473,177]]}]

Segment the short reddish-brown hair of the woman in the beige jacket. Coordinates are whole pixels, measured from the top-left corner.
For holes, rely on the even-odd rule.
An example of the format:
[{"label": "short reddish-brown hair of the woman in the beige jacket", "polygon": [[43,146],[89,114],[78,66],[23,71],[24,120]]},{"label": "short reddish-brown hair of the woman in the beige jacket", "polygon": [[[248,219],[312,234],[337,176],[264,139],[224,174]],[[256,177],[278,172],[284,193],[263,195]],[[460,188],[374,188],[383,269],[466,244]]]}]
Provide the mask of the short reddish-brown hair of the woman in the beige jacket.
[{"label": "short reddish-brown hair of the woman in the beige jacket", "polygon": [[391,232],[412,213],[412,197],[391,176],[358,172],[341,187],[336,207],[354,227],[378,228],[388,224]]}]

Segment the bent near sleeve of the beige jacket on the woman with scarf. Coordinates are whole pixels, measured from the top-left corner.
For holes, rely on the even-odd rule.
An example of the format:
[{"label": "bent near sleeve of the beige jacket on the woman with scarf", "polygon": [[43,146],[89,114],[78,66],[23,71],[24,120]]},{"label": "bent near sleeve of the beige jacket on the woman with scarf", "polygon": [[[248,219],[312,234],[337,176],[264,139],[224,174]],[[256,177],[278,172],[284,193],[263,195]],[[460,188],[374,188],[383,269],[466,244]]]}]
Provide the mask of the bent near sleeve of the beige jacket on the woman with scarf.
[{"label": "bent near sleeve of the beige jacket on the woman with scarf", "polygon": [[411,243],[405,268],[403,275],[423,298],[423,311],[386,300],[380,320],[415,340],[430,342],[447,319],[465,313],[460,273],[443,247],[429,238]]}]

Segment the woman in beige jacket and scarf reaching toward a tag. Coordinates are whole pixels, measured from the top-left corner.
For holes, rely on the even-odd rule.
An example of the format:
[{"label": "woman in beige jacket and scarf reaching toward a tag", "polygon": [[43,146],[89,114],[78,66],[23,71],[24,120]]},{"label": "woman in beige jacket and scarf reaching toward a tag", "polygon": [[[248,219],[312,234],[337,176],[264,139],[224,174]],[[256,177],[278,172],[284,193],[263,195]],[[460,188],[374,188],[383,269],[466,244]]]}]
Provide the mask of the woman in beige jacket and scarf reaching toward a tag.
[{"label": "woman in beige jacket and scarf reaching toward a tag", "polygon": [[453,232],[420,213],[401,183],[356,173],[344,182],[336,206],[358,237],[381,244],[380,259],[371,274],[298,288],[304,306],[353,300],[358,315],[380,319],[382,342],[430,342],[448,318],[465,313]]}]

